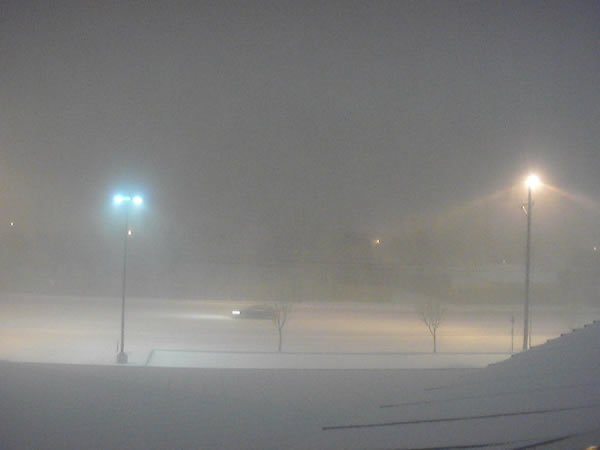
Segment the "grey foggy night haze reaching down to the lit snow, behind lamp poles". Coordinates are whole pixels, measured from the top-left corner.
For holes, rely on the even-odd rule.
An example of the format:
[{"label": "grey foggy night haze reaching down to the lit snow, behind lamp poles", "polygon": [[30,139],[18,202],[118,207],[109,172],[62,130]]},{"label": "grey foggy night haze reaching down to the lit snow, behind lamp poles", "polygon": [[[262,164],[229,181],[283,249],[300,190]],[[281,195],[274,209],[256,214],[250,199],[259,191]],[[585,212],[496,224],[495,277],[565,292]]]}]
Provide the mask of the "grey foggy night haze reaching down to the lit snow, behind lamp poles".
[{"label": "grey foggy night haze reaching down to the lit snow, behind lamp poles", "polygon": [[597,6],[4,1],[0,289],[598,305]]}]

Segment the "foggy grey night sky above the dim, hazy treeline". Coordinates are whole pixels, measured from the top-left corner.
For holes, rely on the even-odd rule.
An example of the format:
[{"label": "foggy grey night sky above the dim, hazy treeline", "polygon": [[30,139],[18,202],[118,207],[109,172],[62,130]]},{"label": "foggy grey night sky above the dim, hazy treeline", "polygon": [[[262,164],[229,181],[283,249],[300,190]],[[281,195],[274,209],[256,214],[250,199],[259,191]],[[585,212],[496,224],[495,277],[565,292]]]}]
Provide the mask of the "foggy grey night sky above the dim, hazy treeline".
[{"label": "foggy grey night sky above the dim, hazy treeline", "polygon": [[131,186],[155,238],[241,242],[529,168],[600,193],[597,1],[223,3],[2,1],[2,220],[97,233]]}]

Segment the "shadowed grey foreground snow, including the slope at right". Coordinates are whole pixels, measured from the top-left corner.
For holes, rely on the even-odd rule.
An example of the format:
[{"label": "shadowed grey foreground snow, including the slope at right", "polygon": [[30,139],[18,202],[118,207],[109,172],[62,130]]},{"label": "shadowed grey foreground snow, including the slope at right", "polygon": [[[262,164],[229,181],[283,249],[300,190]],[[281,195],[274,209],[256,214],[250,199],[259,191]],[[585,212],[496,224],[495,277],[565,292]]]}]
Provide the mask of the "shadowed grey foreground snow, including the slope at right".
[{"label": "shadowed grey foreground snow, including the slope at right", "polygon": [[585,449],[600,322],[485,369],[0,363],[2,448]]}]

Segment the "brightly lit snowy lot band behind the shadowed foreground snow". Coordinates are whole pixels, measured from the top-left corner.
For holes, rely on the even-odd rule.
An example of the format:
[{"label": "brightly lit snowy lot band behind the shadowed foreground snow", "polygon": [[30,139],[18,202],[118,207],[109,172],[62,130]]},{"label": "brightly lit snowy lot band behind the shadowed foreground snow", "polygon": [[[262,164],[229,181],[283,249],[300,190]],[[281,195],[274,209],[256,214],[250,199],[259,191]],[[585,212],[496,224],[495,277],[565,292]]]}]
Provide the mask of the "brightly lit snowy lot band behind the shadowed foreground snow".
[{"label": "brightly lit snowy lot band behind the shadowed foreground snow", "polygon": [[[194,367],[253,368],[259,361],[258,367],[292,368],[314,367],[321,360],[323,368],[483,367],[522,345],[521,305],[449,307],[439,328],[440,355],[432,360],[431,336],[412,306],[303,303],[294,305],[284,328],[286,355],[273,359],[273,323],[231,316],[232,309],[247,306],[236,301],[127,299],[125,350],[130,362],[181,365],[186,359]],[[120,298],[1,295],[0,359],[112,364],[120,314]],[[534,305],[531,316],[532,342],[538,345],[600,318],[600,311]],[[179,352],[177,361],[174,352]],[[255,355],[249,361],[244,353]],[[317,355],[307,361],[302,358],[306,353]],[[327,357],[332,354],[338,356]]]}]

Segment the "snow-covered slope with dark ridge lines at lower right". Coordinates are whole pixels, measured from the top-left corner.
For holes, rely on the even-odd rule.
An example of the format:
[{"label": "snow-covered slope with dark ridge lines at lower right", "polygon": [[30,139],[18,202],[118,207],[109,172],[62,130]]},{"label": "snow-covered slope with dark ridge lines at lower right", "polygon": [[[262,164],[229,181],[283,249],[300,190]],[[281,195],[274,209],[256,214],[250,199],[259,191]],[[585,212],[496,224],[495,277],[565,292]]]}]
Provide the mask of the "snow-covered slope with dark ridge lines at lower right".
[{"label": "snow-covered slope with dark ridge lines at lower right", "polygon": [[600,434],[600,323],[323,431],[388,448],[585,449]]}]

